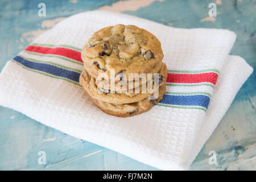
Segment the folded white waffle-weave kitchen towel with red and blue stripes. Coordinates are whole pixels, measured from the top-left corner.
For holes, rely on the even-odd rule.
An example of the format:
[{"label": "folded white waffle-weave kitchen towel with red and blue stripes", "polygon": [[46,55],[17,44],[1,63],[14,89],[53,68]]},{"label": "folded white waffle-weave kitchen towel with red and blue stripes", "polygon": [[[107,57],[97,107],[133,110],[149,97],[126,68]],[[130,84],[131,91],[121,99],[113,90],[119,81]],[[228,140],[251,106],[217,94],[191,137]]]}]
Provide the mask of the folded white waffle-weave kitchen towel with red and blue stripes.
[{"label": "folded white waffle-weave kitchen towel with red and blue stripes", "polygon": [[[93,32],[118,23],[156,35],[168,68],[163,101],[128,118],[98,109],[78,84],[81,48]],[[241,57],[228,56],[235,39],[228,30],[172,28],[106,11],[80,13],[7,62],[0,104],[156,168],[189,169],[253,71]]]}]

